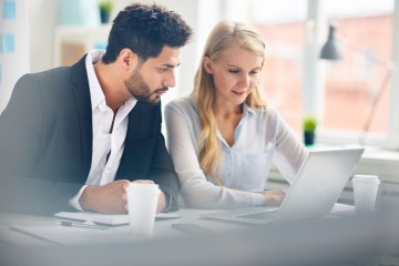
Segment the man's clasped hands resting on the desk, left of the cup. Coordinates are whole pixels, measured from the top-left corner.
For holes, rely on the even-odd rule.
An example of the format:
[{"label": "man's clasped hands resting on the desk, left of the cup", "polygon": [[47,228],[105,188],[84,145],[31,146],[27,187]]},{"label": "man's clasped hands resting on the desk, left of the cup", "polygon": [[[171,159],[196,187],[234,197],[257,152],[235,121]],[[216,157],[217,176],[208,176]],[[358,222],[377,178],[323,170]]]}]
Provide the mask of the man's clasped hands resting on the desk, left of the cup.
[{"label": "man's clasped hands resting on the desk, left of the cup", "polygon": [[127,205],[124,187],[127,185],[127,180],[120,180],[102,186],[88,186],[79,198],[79,203],[84,211],[124,214]]}]

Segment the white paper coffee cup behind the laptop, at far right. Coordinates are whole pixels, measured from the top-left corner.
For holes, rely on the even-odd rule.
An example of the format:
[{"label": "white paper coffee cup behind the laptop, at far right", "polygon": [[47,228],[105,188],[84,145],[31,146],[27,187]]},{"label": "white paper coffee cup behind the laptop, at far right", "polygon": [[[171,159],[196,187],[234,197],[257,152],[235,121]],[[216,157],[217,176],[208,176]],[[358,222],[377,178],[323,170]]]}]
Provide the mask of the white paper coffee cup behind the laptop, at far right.
[{"label": "white paper coffee cup behind the laptop, at far right", "polygon": [[379,184],[380,181],[377,175],[355,175],[352,185],[357,213],[372,212],[375,209]]}]

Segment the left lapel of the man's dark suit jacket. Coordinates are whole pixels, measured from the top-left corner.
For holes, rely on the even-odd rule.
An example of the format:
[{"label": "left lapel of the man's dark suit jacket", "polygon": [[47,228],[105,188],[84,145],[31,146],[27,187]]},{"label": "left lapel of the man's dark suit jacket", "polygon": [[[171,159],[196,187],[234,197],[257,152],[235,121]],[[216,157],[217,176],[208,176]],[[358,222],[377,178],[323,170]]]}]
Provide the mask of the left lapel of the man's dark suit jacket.
[{"label": "left lapel of the man's dark suit jacket", "polygon": [[90,99],[90,89],[88,73],[85,69],[85,55],[71,68],[73,83],[73,95],[81,133],[81,154],[83,175],[89,175],[92,160],[93,147],[93,123],[92,108]]}]

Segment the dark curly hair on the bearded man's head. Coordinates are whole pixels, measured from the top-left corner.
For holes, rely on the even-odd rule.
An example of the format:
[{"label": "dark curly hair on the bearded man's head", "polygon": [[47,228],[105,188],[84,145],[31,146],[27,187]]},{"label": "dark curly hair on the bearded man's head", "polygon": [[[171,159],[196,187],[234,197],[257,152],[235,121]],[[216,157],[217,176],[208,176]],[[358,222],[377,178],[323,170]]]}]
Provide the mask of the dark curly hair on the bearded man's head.
[{"label": "dark curly hair on the bearded man's head", "polygon": [[174,11],[158,4],[133,3],[114,19],[102,61],[112,63],[122,49],[130,48],[145,62],[156,58],[164,45],[184,47],[192,34],[193,30]]}]

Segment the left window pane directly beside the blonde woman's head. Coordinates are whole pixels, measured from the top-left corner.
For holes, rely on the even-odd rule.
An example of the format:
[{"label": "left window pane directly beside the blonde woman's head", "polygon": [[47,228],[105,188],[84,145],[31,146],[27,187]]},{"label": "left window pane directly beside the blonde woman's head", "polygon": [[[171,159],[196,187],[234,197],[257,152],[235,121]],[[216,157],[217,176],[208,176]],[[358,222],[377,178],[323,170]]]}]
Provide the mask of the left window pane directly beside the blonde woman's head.
[{"label": "left window pane directly beside the blonde woman's head", "polygon": [[307,1],[254,0],[250,4],[250,22],[266,43],[262,83],[266,100],[299,134]]}]

